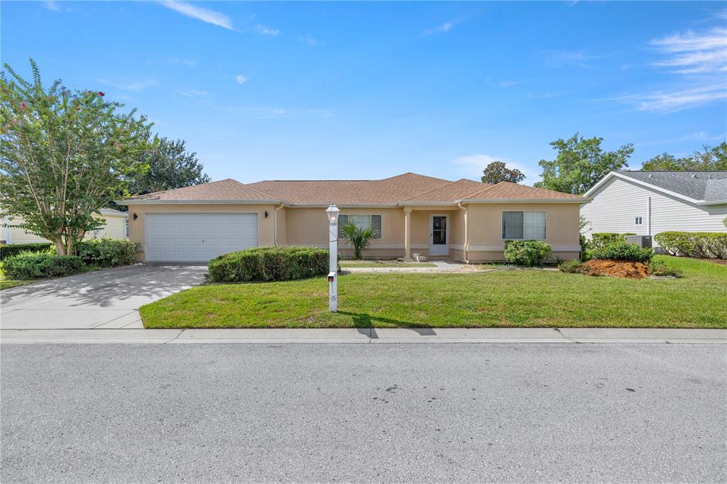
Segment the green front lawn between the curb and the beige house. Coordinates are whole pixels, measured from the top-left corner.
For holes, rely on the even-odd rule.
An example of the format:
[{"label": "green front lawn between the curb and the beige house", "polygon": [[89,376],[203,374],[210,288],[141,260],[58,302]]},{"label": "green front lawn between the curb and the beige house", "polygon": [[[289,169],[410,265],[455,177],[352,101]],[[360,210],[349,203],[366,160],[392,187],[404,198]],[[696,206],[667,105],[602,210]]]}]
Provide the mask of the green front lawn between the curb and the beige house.
[{"label": "green front lawn between the curb and the beige house", "polygon": [[727,328],[727,267],[658,256],[684,277],[620,279],[545,270],[360,273],[196,286],[141,307],[147,328]]}]

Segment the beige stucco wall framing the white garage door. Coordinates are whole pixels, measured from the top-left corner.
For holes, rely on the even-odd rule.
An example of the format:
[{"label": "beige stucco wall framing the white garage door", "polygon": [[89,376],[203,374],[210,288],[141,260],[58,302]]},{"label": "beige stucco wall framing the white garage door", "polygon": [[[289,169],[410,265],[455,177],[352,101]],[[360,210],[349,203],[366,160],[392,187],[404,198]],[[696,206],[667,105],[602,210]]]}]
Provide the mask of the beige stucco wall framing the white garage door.
[{"label": "beige stucco wall framing the white garage door", "polygon": [[[129,241],[140,243],[138,259],[145,260],[146,250],[146,214],[172,214],[172,213],[255,213],[257,214],[257,244],[259,246],[273,245],[273,210],[275,205],[245,204],[245,203],[159,203],[148,205],[129,205]],[[268,217],[265,218],[265,211]],[[137,219],[134,219],[134,214]]]}]

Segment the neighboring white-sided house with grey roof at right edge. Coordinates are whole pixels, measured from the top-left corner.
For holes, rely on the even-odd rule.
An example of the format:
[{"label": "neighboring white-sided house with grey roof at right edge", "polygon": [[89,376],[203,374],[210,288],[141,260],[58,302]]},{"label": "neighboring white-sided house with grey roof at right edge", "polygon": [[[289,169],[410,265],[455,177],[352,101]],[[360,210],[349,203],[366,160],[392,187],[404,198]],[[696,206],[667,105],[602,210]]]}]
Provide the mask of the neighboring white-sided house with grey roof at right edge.
[{"label": "neighboring white-sided house with grey roof at right edge", "polygon": [[611,172],[584,196],[587,234],[727,231],[727,172]]}]

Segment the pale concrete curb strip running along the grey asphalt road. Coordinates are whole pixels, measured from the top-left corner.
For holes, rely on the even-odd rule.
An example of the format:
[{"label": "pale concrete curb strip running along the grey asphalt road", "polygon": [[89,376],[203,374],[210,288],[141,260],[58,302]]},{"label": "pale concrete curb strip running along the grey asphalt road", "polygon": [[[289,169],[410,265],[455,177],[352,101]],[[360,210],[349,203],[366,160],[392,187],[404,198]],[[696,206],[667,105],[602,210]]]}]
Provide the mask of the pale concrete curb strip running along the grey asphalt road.
[{"label": "pale concrete curb strip running along the grey asphalt road", "polygon": [[200,343],[716,343],[727,329],[660,328],[279,328],[279,329],[3,329],[2,344]]}]

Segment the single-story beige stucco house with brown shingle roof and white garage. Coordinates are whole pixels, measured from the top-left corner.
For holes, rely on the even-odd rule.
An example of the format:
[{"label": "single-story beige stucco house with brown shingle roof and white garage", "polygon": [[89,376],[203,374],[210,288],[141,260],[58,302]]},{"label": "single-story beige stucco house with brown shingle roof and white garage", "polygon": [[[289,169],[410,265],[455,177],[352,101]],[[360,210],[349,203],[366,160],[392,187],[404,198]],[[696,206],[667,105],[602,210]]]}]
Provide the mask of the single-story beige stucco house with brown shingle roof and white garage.
[{"label": "single-story beige stucco house with brown shingle roof and white garage", "polygon": [[[577,195],[501,182],[486,185],[405,173],[384,180],[235,180],[149,193],[129,206],[129,240],[147,262],[206,261],[254,246],[328,247],[325,210],[341,225],[374,225],[369,258],[466,262],[503,259],[505,240],[542,240],[554,257],[578,257]],[[342,257],[352,254],[340,244]]]}]

